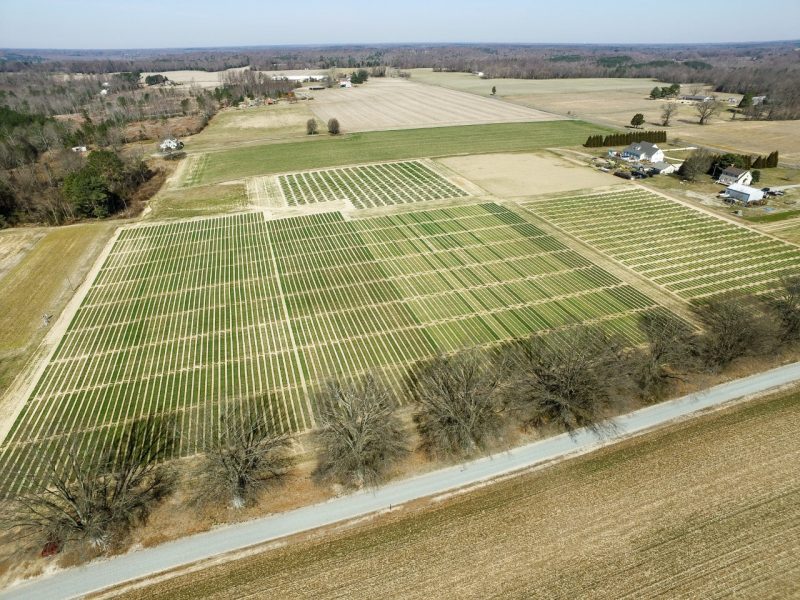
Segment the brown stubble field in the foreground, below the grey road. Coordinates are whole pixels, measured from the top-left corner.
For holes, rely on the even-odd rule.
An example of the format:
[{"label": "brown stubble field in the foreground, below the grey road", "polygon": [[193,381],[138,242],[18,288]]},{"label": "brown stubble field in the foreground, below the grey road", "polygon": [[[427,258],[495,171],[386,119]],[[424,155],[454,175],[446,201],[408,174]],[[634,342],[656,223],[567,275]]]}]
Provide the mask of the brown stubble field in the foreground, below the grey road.
[{"label": "brown stubble field in the foreground, below the grey road", "polygon": [[795,597],[798,434],[784,393],[122,597]]}]

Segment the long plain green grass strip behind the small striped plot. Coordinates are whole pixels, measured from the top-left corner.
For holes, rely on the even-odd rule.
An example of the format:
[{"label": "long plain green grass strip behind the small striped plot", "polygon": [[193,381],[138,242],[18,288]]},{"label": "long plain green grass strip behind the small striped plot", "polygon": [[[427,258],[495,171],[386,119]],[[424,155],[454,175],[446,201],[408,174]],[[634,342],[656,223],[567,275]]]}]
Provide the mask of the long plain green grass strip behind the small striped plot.
[{"label": "long plain green grass strip behind the small striped plot", "polygon": [[209,154],[200,184],[362,162],[577,146],[606,130],[582,121],[500,123],[319,136]]}]

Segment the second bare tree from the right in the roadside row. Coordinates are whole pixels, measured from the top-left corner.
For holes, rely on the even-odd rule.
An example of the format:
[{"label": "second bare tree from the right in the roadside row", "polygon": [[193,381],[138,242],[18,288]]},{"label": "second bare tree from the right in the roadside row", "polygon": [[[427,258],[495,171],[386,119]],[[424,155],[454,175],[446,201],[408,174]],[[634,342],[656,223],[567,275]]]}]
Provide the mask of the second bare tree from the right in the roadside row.
[{"label": "second bare tree from the right in the roadside row", "polygon": [[699,302],[694,311],[705,331],[700,352],[706,367],[719,370],[742,356],[775,348],[778,325],[761,303],[748,296],[726,294]]}]

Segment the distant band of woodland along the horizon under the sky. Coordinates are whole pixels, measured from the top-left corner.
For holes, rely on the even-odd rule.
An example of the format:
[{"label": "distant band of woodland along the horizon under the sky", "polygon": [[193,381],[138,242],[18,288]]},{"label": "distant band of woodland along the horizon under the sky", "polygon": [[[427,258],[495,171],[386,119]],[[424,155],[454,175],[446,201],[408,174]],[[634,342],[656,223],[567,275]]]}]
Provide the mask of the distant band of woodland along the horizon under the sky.
[{"label": "distant band of woodland along the horizon under the sky", "polygon": [[682,46],[450,44],[221,48],[214,50],[0,51],[0,72],[119,73],[347,69],[390,66],[483,74],[487,78],[640,77],[706,82],[721,93],[766,95],[766,119],[800,118],[796,44]]}]

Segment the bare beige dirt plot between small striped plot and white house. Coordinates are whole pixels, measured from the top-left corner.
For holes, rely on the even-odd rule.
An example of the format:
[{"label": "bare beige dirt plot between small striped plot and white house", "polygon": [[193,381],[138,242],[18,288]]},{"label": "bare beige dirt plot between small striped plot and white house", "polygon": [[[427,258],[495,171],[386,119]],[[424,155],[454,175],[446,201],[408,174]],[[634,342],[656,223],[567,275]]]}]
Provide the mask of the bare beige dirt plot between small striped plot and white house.
[{"label": "bare beige dirt plot between small striped plot and white house", "polygon": [[442,158],[438,162],[500,198],[552,194],[622,182],[551,153],[477,154]]}]

